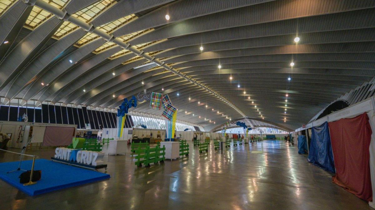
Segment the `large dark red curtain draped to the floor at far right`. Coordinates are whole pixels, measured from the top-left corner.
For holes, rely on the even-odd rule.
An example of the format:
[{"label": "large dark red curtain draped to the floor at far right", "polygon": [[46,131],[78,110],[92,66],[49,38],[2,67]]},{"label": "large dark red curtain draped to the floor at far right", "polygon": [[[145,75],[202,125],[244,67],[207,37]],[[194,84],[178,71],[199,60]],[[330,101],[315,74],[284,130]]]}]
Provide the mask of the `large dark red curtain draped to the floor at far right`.
[{"label": "large dark red curtain draped to the floor at far right", "polygon": [[331,122],[329,130],[336,168],[333,182],[363,200],[372,201],[369,117],[364,113]]}]

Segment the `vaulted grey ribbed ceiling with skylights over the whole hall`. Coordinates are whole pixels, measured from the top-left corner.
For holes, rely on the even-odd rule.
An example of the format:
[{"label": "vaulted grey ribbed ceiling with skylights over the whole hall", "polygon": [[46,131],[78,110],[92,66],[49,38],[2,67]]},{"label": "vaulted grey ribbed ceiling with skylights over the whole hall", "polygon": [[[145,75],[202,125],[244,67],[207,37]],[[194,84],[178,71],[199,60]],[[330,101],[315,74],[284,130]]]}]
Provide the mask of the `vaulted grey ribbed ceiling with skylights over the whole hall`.
[{"label": "vaulted grey ribbed ceiling with skylights over the whole hall", "polygon": [[[374,7],[0,0],[0,97],[113,109],[147,89],[208,130],[246,117],[295,129],[375,76]],[[161,114],[146,101],[133,111]]]}]

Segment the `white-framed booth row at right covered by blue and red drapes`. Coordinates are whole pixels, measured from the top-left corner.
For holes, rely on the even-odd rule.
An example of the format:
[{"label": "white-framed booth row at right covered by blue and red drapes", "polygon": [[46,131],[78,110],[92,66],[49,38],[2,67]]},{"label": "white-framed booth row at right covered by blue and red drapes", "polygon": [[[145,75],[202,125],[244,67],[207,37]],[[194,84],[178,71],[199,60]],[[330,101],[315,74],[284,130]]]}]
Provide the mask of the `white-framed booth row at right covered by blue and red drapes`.
[{"label": "white-framed booth row at right covered by blue and red drapes", "polygon": [[305,130],[305,135],[310,135],[308,129],[308,161],[335,173],[334,183],[369,201],[374,208],[374,97],[315,120],[296,132],[301,134]]}]

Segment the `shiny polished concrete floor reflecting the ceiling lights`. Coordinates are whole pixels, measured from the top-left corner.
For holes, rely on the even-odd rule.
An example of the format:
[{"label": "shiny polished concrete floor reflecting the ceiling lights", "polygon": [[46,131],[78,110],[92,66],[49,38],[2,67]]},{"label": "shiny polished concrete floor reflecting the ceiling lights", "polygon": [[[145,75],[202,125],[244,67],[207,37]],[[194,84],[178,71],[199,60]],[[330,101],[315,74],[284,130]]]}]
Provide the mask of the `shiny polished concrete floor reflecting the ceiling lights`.
[{"label": "shiny polished concrete floor reflecting the ceiling lights", "polygon": [[[130,154],[110,155],[109,180],[35,197],[0,180],[1,209],[371,209],[333,184],[333,174],[308,163],[296,145],[265,140],[224,152],[210,147],[199,155],[190,143],[188,158],[149,168],[137,168]],[[27,153],[49,159],[54,149]],[[17,159],[0,153],[0,162]]]}]

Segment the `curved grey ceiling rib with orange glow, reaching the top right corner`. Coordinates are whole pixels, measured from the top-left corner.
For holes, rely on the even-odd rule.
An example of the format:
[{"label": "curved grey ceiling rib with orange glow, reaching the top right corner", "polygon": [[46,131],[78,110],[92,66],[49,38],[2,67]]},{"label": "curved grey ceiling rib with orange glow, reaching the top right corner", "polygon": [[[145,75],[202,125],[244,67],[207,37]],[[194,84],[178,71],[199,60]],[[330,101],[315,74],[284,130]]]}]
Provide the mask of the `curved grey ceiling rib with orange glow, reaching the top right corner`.
[{"label": "curved grey ceiling rib with orange glow, reaching the top right corner", "polygon": [[[285,0],[270,1],[263,4],[240,7],[238,9],[213,13],[211,15],[187,19],[175,24],[166,25],[165,27],[133,38],[130,40],[130,44],[135,45],[204,31],[260,24],[264,22],[282,21],[307,16],[325,15],[356,9],[366,9],[375,6],[375,2],[371,0],[344,0],[341,1],[342,4],[334,4],[334,2],[337,2],[337,0]],[[293,7],[293,9],[290,9],[291,7]],[[308,8],[306,9],[306,7]],[[298,30],[298,28],[294,29]]]}]

